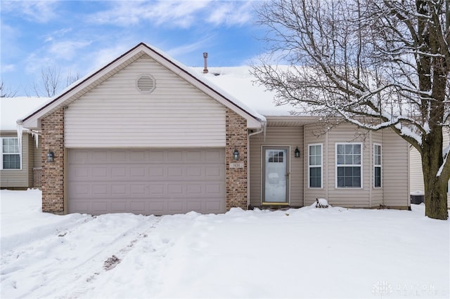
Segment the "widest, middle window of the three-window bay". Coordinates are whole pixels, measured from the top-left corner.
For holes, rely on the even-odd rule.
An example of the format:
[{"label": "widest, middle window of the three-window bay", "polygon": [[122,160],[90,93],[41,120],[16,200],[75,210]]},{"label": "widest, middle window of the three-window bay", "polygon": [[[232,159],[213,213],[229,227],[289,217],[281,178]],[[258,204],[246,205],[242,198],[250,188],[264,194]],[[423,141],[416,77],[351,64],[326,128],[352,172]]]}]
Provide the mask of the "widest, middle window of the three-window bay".
[{"label": "widest, middle window of the three-window bay", "polygon": [[338,188],[360,188],[361,143],[336,144],[336,186]]}]

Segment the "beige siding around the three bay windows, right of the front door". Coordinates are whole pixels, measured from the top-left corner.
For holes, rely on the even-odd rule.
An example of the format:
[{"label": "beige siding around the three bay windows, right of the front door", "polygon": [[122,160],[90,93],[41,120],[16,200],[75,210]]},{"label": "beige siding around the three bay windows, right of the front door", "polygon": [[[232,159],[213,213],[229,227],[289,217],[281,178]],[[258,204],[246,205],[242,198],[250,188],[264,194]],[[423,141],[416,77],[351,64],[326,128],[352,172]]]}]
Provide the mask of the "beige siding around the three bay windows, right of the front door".
[{"label": "beige siding around the three bay windows, right of the front door", "polygon": [[[312,204],[317,197],[324,197],[331,205],[356,208],[386,206],[408,206],[408,147],[406,142],[390,130],[368,132],[355,135],[355,127],[342,124],[328,133],[317,136],[319,125],[304,127],[304,153],[308,146],[323,145],[323,188],[309,188],[308,161],[304,161],[304,199],[305,205]],[[336,144],[358,142],[362,148],[362,187],[336,187]],[[382,187],[373,186],[373,145],[382,147]]]}]

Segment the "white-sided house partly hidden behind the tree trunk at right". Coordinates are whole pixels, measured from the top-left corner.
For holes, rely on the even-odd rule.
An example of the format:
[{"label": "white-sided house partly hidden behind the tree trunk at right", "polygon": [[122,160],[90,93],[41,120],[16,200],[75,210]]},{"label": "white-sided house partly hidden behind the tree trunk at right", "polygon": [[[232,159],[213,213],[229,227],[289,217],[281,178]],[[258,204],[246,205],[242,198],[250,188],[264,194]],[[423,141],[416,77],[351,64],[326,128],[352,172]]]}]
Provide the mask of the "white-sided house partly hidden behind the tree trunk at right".
[{"label": "white-sided house partly hidden behind the tree trunk at right", "polygon": [[[450,132],[444,131],[442,142],[444,148],[450,146]],[[423,171],[422,171],[422,158],[415,147],[411,146],[409,153],[409,180],[411,182],[410,192],[411,194],[423,194],[425,193],[425,187],[423,184]],[[450,183],[447,187],[447,208],[450,208]]]}]

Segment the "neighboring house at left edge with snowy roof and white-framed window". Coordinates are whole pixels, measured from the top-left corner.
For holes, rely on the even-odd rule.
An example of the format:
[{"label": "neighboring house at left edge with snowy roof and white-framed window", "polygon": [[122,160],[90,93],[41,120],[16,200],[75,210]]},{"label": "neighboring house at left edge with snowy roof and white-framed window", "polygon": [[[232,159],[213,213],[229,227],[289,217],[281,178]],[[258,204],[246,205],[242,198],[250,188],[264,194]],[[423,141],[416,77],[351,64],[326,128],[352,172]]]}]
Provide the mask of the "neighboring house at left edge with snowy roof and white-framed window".
[{"label": "neighboring house at left edge with snowy roof and white-framed window", "polygon": [[19,140],[16,121],[49,98],[0,98],[0,188],[41,187],[41,149],[36,135],[23,133]]}]

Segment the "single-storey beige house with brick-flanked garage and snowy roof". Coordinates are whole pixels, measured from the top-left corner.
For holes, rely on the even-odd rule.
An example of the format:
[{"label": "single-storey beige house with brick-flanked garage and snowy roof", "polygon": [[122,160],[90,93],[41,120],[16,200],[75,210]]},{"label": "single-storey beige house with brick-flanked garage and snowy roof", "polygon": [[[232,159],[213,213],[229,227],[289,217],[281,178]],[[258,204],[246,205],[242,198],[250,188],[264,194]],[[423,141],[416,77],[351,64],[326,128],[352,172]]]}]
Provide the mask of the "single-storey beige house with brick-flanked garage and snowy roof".
[{"label": "single-storey beige house with brick-flanked garage and snowy roof", "polygon": [[404,140],[350,124],[319,135],[319,119],[275,106],[251,80],[139,44],[77,81],[23,119],[53,156],[42,165],[43,211],[224,213],[318,197],[409,208]]}]

